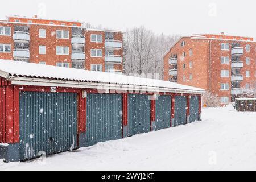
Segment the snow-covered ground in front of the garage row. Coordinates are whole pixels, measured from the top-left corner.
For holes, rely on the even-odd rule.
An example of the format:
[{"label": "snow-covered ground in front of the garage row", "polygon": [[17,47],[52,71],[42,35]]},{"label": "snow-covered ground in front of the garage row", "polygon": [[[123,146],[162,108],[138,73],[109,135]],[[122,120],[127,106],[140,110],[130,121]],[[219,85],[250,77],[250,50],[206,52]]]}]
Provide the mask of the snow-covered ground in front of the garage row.
[{"label": "snow-covered ground in front of the garage row", "polygon": [[236,170],[256,169],[256,113],[203,109],[203,121],[98,143],[0,170]]}]

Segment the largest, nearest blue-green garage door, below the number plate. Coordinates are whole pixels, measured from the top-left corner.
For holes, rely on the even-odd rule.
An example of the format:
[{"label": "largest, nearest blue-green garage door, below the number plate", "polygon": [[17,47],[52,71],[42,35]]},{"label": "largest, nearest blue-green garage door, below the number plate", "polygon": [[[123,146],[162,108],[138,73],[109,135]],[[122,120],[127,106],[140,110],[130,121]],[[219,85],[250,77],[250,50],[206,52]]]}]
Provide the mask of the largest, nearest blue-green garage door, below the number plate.
[{"label": "largest, nearest blue-green garage door, below the number plate", "polygon": [[77,94],[20,92],[20,160],[77,148]]}]

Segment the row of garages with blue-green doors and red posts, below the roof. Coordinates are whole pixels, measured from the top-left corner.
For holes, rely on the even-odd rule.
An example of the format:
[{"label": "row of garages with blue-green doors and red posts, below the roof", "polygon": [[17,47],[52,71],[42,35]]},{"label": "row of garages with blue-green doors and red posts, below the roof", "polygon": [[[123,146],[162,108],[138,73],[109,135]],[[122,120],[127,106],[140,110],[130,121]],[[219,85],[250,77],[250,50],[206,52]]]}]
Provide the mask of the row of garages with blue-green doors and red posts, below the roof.
[{"label": "row of garages with blue-green doors and red posts, below the roof", "polygon": [[200,120],[202,90],[99,93],[74,85],[28,85],[11,79],[10,73],[2,75],[0,158],[5,162],[26,161]]}]

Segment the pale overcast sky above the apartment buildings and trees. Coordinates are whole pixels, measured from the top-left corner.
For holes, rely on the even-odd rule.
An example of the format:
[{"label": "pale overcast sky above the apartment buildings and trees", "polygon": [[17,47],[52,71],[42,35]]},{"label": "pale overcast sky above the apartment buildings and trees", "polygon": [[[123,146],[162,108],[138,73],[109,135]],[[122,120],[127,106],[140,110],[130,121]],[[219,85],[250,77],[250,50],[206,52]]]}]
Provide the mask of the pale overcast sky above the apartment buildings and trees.
[{"label": "pale overcast sky above the apartment buildings and trees", "polygon": [[254,0],[9,0],[6,15],[80,20],[115,30],[144,25],[156,33],[220,33],[256,37]]}]

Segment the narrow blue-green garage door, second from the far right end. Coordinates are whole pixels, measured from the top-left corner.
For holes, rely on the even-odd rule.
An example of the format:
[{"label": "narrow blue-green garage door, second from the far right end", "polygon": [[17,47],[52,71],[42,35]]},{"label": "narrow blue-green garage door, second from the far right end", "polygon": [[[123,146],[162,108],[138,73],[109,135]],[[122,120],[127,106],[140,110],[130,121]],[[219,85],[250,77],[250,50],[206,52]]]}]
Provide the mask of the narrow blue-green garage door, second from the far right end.
[{"label": "narrow blue-green garage door, second from the far right end", "polygon": [[187,98],[175,96],[174,126],[187,123]]}]

